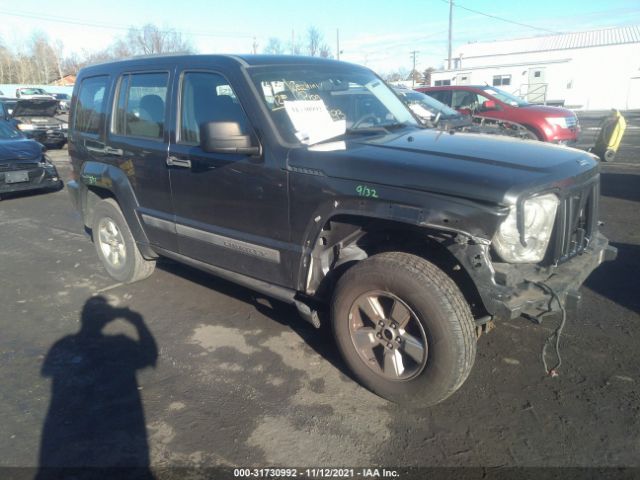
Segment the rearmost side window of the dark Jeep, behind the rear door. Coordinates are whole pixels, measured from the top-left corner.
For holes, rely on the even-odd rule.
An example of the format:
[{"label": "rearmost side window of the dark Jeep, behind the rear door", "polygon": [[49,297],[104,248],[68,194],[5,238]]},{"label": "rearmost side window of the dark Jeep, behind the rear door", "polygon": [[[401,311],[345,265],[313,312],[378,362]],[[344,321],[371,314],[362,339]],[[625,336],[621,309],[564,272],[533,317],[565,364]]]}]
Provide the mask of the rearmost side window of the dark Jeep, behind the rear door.
[{"label": "rearmost side window of the dark Jeep, behind the rear door", "polygon": [[82,80],[75,109],[75,129],[98,134],[104,125],[108,78],[89,77]]}]

